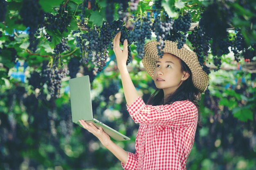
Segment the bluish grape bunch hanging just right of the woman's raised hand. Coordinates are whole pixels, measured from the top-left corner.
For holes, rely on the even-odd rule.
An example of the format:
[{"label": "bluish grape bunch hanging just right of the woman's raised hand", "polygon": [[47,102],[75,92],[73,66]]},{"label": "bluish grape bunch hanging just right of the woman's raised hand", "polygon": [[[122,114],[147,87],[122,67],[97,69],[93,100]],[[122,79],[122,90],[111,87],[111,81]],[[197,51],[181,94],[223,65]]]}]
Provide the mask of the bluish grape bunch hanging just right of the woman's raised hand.
[{"label": "bluish grape bunch hanging just right of the woman's raised hand", "polygon": [[146,18],[144,16],[139,18],[134,18],[135,26],[134,29],[130,32],[130,38],[132,39],[134,44],[137,46],[136,50],[138,53],[138,57],[142,59],[144,57],[144,45],[145,38],[151,40],[151,20],[150,18]]}]

